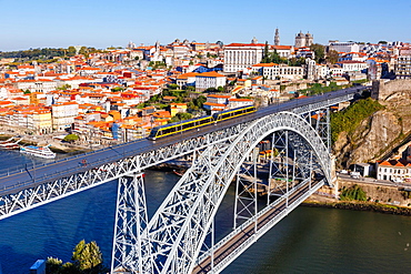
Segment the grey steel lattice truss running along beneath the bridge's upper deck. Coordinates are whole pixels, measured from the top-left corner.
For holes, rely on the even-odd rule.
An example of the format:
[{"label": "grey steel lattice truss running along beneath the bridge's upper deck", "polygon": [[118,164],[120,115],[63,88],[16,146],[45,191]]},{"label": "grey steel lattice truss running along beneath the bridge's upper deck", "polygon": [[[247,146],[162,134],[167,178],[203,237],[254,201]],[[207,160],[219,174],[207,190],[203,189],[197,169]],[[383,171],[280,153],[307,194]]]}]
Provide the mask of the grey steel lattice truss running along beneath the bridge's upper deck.
[{"label": "grey steel lattice truss running along beneath the bridge's upper deck", "polygon": [[[317,103],[311,103],[292,110],[293,113],[303,115],[314,110],[352,100],[354,94],[347,94]],[[172,159],[180,158],[208,145],[223,142],[240,134],[250,123],[242,123],[221,131],[215,131],[202,136],[193,138],[176,144],[168,145],[148,153],[127,155],[124,159],[113,159],[111,163],[101,164],[86,172],[73,175],[50,179],[37,177],[33,182],[21,182],[30,185],[16,193],[0,194],[0,220],[31,210],[36,206],[62,199],[64,196],[88,190],[99,184],[117,180],[124,174],[130,174]],[[34,186],[32,186],[34,185]]]}]

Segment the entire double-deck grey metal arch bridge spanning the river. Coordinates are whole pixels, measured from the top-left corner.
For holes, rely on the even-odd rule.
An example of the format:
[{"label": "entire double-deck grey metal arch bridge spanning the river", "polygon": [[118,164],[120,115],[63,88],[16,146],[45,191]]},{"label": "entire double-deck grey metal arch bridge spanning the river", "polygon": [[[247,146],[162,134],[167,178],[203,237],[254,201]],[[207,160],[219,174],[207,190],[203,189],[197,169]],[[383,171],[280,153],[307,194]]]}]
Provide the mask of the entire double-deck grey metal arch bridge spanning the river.
[{"label": "entire double-deck grey metal arch bridge spanning the river", "polygon": [[[293,100],[154,143],[130,142],[7,174],[0,177],[0,220],[120,179],[113,273],[219,273],[305,197],[332,183],[329,106],[364,89]],[[257,156],[251,165],[243,163],[270,134],[279,155],[271,156],[268,203],[258,211]],[[187,154],[194,155],[192,166],[148,221],[142,171]],[[79,166],[83,159],[88,166]],[[314,171],[322,177],[315,180]],[[253,182],[242,182],[240,173],[253,173]],[[214,244],[213,216],[235,176],[234,231]]]}]

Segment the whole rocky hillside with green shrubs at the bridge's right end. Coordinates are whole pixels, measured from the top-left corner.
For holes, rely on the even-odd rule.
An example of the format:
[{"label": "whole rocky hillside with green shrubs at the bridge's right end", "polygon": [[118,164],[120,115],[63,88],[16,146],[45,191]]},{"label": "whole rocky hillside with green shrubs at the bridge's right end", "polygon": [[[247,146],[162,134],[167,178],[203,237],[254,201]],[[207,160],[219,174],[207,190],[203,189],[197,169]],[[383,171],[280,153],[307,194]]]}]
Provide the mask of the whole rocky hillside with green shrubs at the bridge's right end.
[{"label": "whole rocky hillside with green shrubs at the bridge's right end", "polygon": [[331,118],[337,168],[380,160],[411,133],[410,80],[378,82],[372,98]]}]

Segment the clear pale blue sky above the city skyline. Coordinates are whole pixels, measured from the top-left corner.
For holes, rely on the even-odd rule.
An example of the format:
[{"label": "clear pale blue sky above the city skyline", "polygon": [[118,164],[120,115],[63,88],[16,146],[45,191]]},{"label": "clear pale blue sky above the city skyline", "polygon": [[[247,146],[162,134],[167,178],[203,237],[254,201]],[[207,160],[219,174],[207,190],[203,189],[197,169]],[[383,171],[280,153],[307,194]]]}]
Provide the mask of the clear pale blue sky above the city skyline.
[{"label": "clear pale blue sky above the city skyline", "polygon": [[410,0],[0,0],[0,51],[198,42],[411,41]]}]

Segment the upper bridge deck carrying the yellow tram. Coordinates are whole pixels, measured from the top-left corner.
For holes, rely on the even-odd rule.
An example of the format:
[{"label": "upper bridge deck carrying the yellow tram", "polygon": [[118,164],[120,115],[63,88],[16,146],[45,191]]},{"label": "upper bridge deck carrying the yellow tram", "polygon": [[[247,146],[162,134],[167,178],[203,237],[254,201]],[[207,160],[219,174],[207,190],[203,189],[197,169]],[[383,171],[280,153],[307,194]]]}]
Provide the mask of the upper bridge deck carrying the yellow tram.
[{"label": "upper bridge deck carrying the yellow tram", "polygon": [[[68,158],[64,160],[56,161],[50,164],[36,166],[36,168],[23,168],[20,171],[13,173],[0,174],[0,195],[8,195],[17,193],[18,191],[30,189],[47,182],[53,182],[61,177],[68,177],[77,173],[84,172],[87,170],[99,168],[107,163],[112,163],[121,159],[139,155],[142,153],[148,153],[150,151],[156,151],[158,149],[171,145],[174,143],[182,142],[184,140],[190,140],[192,138],[206,135],[210,132],[223,130],[225,128],[253,121],[255,119],[275,113],[281,111],[292,111],[301,109],[308,105],[315,105],[323,102],[332,100],[338,101],[347,95],[353,95],[365,87],[350,88],[345,90],[340,90],[335,92],[325,93],[323,95],[309,97],[298,100],[291,100],[281,104],[269,105],[262,108],[254,113],[240,116],[238,119],[227,120],[219,122],[215,125],[208,125],[201,128],[199,131],[191,130],[184,132],[184,134],[171,135],[169,138],[162,138],[156,142],[149,141],[148,139],[132,141],[128,143],[118,144],[108,149],[98,150],[91,153],[86,153],[79,156]],[[314,108],[313,108],[314,110]],[[82,166],[81,162],[86,160],[87,166]]]}]

